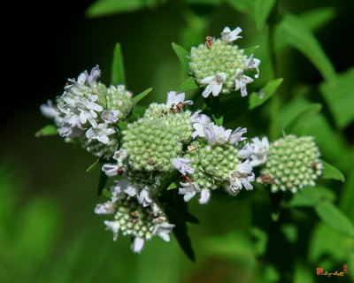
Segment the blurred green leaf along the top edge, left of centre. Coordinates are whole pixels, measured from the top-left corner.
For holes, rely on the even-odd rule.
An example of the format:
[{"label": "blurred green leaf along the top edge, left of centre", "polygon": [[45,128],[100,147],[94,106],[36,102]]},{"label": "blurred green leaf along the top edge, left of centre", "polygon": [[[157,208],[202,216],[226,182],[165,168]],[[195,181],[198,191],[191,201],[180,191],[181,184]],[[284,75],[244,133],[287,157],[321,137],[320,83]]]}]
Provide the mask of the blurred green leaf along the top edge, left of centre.
[{"label": "blurred green leaf along the top edge, left of centre", "polygon": [[98,18],[127,11],[139,11],[165,4],[167,0],[97,0],[86,10],[88,18]]}]

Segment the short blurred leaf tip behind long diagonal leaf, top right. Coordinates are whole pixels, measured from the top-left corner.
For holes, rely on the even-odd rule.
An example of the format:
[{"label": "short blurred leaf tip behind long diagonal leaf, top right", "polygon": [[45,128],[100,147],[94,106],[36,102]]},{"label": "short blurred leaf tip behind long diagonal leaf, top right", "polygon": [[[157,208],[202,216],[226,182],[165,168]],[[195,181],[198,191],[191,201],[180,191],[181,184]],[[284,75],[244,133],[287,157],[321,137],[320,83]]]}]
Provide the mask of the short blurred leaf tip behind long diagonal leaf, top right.
[{"label": "short blurred leaf tip behind long diagonal leaf, top right", "polygon": [[321,27],[324,27],[331,19],[334,19],[335,14],[336,11],[334,7],[321,7],[304,11],[298,17],[307,28],[316,32]]}]

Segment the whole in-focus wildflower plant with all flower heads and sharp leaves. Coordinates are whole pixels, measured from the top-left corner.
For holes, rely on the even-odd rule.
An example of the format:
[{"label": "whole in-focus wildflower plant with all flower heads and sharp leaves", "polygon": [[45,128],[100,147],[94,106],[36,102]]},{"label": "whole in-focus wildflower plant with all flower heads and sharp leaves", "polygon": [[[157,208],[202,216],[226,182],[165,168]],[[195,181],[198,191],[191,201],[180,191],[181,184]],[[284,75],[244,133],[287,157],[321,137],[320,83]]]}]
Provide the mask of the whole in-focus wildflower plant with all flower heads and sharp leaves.
[{"label": "whole in-focus wildflower plant with all flower heads and sharp leaves", "polygon": [[[187,206],[195,199],[203,205],[214,195],[251,202],[254,195],[269,192],[279,213],[283,195],[289,193],[284,199],[291,200],[309,187],[316,189],[320,179],[342,179],[321,159],[316,138],[296,131],[304,122],[300,116],[274,127],[268,137],[251,124],[235,126],[237,116],[258,111],[282,79],[266,81],[260,89],[252,86],[262,77],[262,63],[255,57],[257,48],[242,49],[242,29],[233,28],[223,28],[219,37],[206,36],[190,50],[173,43],[187,66],[187,79],[165,94],[165,103],[139,105],[151,88],[136,96],[127,90],[124,73],[114,72],[123,70],[117,45],[112,80],[118,84],[100,82],[96,65],[69,79],[55,103],[41,106],[53,125],[40,135],[58,134],[97,157],[88,171],[100,168],[99,193],[107,200],[94,210],[113,241],[119,233],[131,237],[135,253],[152,237],[170,241],[177,231],[181,248],[194,259],[186,223],[197,222]],[[248,96],[247,88],[255,91]],[[236,103],[244,106],[241,111],[234,111]],[[227,120],[230,108],[234,116]]]}]

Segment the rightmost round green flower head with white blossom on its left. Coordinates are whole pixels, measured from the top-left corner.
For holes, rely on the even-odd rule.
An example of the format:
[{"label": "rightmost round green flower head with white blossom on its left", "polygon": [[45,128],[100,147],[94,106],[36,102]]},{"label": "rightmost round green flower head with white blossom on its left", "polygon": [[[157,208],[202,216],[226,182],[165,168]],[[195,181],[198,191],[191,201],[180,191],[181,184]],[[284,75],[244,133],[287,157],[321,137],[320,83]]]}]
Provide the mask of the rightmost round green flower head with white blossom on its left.
[{"label": "rightmost round green flower head with white blossom on its left", "polygon": [[264,164],[258,182],[271,185],[273,193],[289,190],[296,193],[307,186],[315,186],[315,180],[322,173],[319,148],[312,136],[287,135],[269,145],[254,139],[254,165]]}]

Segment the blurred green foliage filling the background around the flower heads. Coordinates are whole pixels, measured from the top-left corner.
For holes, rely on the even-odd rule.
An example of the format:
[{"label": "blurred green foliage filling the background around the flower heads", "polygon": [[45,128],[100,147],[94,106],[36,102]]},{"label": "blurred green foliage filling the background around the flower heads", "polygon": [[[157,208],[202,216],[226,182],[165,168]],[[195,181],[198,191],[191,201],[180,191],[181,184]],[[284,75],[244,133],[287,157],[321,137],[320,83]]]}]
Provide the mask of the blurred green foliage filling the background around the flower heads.
[{"label": "blurred green foliage filling the background around the flower heads", "polygon": [[[342,271],[342,264],[348,264],[350,272],[342,282],[354,280],[354,71],[352,65],[337,62],[345,46],[336,44],[340,36],[350,37],[342,31],[350,33],[352,27],[337,33],[331,28],[333,19],[342,23],[347,5],[348,10],[353,6],[343,1],[323,5],[276,0],[91,4],[86,15],[102,18],[91,19],[96,36],[106,30],[111,45],[92,42],[88,28],[90,54],[97,54],[96,64],[109,73],[113,43],[121,42],[114,49],[111,80],[127,81],[137,90],[135,103],[141,105],[132,119],[141,117],[148,103],[165,100],[166,91],[173,88],[186,91],[196,109],[202,107],[195,80],[186,76],[189,48],[203,43],[206,35],[219,36],[223,27],[242,27],[240,45],[259,46],[248,51],[261,59],[261,74],[247,98],[235,93],[221,97],[224,126],[247,126],[249,136],[260,133],[272,139],[283,131],[314,136],[328,162],[324,178],[316,187],[279,202],[269,196],[268,188],[256,185],[250,194],[232,200],[215,193],[206,206],[189,203],[191,215],[200,222],[184,216],[190,220],[186,227],[196,254],[193,264],[174,236],[170,243],[150,241],[139,256],[131,253],[129,239],[112,241],[93,213],[95,203],[103,200],[96,196],[98,170],[92,170],[100,167],[100,160],[76,154],[67,145],[59,148],[59,142],[53,146],[54,136],[41,140],[40,146],[27,142],[7,154],[12,160],[19,151],[23,158],[14,169],[4,162],[0,167],[0,281],[300,283],[324,279],[316,276],[316,267],[334,272]],[[131,21],[127,17],[126,25],[115,25],[114,19],[127,15]],[[134,22],[139,30],[132,28]],[[120,38],[122,34],[130,37]],[[171,47],[171,42],[176,43]],[[89,60],[84,56],[81,62]],[[121,129],[126,126],[119,124]],[[51,126],[37,133],[49,134],[55,134]],[[87,167],[90,179],[83,181]]]}]

